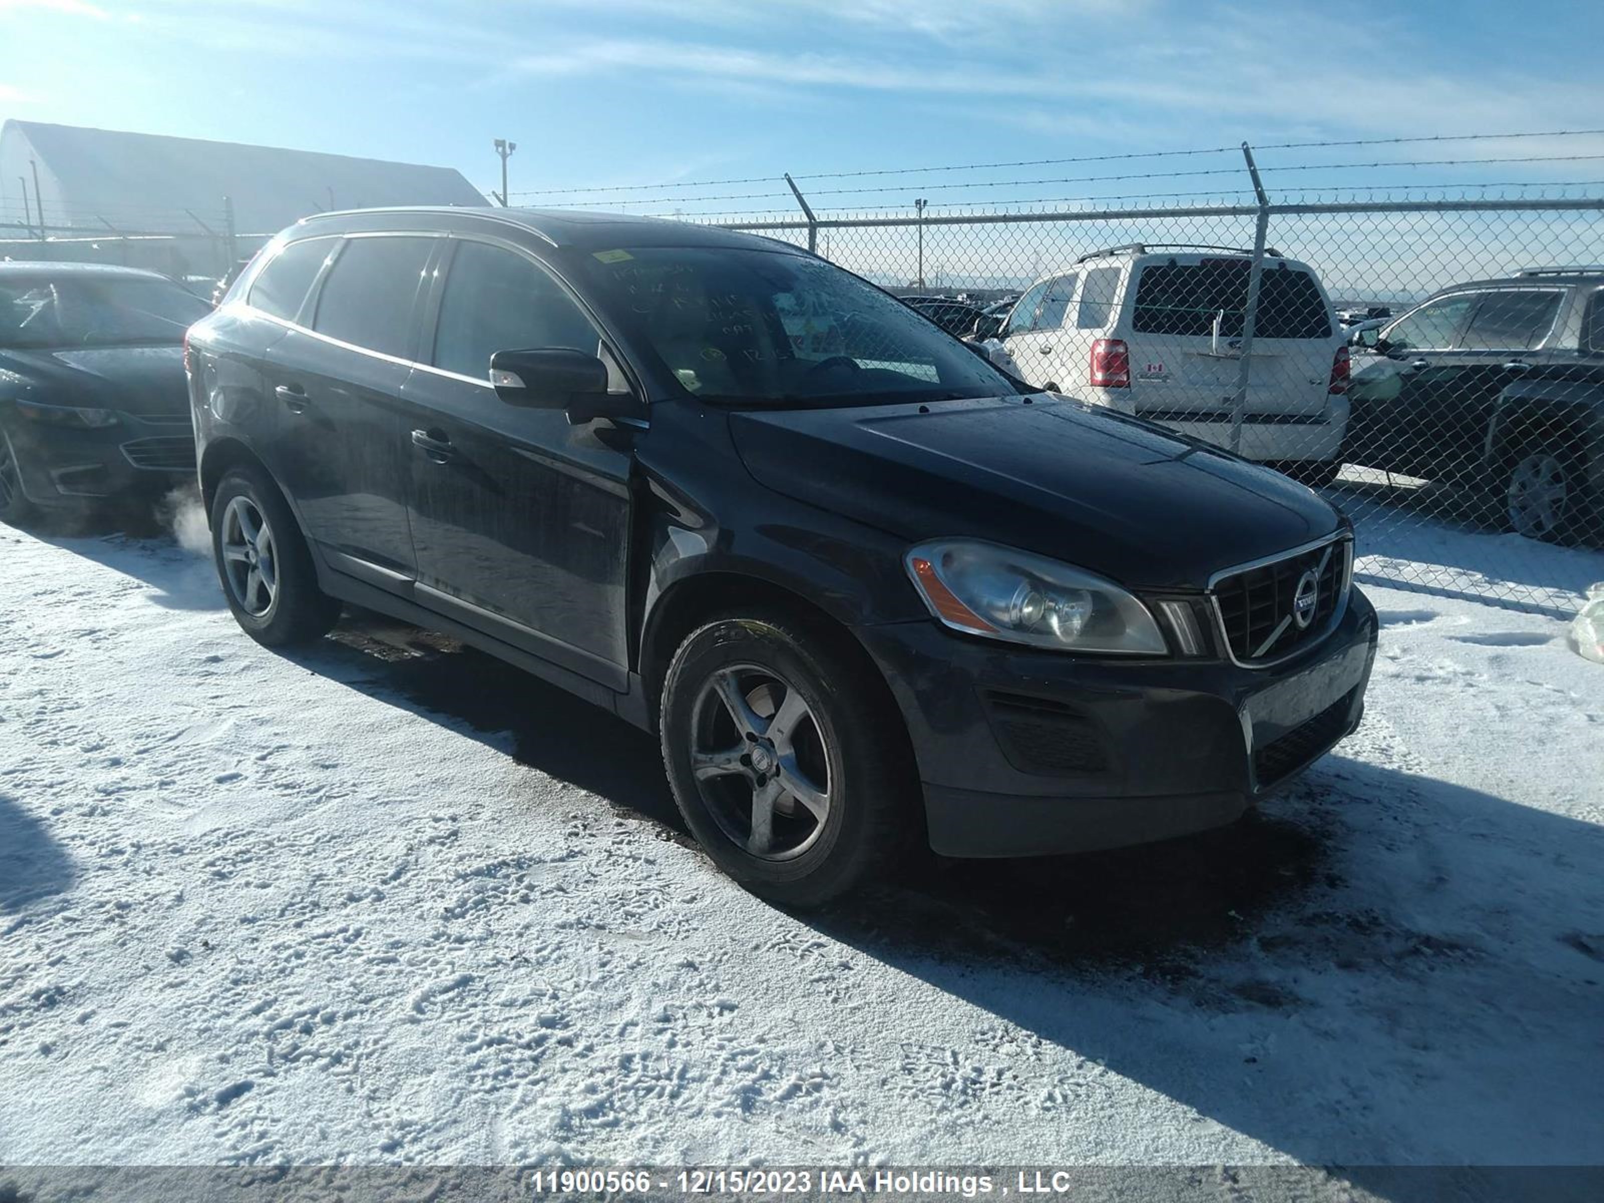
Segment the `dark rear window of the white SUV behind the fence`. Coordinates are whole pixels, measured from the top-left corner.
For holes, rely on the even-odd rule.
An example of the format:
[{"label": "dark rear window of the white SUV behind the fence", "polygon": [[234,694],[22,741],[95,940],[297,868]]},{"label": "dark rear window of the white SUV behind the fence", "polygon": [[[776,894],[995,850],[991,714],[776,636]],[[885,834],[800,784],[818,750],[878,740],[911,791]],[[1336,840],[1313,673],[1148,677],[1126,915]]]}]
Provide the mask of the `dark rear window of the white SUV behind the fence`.
[{"label": "dark rear window of the white SUV behind the fence", "polygon": [[[1209,337],[1219,318],[1221,337],[1240,338],[1248,306],[1250,260],[1153,263],[1136,284],[1137,334]],[[1221,316],[1224,314],[1224,316]],[[1259,282],[1258,338],[1328,338],[1331,314],[1320,286],[1307,271],[1264,266]]]}]

